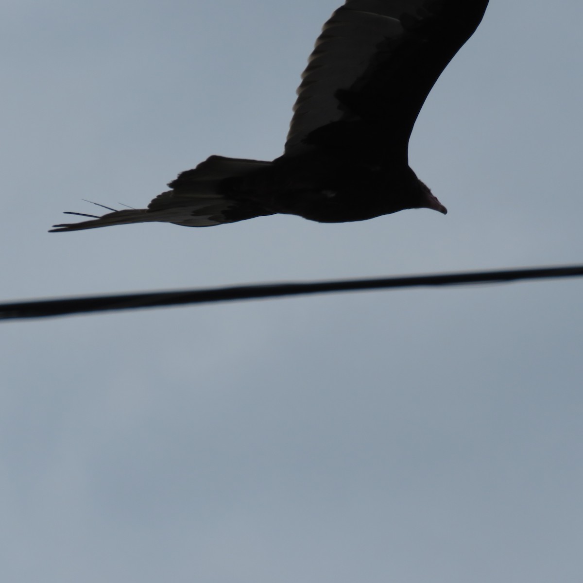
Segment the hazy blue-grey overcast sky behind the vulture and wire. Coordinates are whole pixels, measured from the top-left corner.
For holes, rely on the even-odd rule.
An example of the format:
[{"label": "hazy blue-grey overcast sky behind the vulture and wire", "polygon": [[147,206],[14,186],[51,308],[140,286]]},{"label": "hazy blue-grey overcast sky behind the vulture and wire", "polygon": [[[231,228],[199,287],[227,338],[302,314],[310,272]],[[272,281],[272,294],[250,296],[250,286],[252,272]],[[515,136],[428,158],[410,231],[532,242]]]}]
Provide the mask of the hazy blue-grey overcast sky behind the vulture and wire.
[{"label": "hazy blue-grey overcast sky behind the vulture and wire", "polygon": [[[6,0],[0,296],[581,263],[580,0],[491,0],[417,121],[449,209],[48,234],[282,152],[338,0]],[[99,212],[99,211],[98,211]],[[583,281],[2,324],[0,576],[580,583]]]}]

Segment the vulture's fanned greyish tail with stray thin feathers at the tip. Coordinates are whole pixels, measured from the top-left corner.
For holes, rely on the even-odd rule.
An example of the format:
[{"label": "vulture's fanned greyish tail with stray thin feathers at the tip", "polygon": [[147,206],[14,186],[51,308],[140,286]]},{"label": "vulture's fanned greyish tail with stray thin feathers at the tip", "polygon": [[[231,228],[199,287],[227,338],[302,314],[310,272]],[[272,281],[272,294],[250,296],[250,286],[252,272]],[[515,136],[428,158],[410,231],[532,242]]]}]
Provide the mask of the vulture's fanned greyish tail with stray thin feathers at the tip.
[{"label": "vulture's fanned greyish tail with stray thin feathers at the tip", "polygon": [[[265,209],[236,198],[220,188],[226,178],[239,178],[261,170],[271,162],[210,156],[194,170],[187,170],[170,182],[170,191],[156,196],[147,209],[114,210],[103,216],[67,212],[66,215],[90,217],[80,223],[53,225],[51,233],[96,229],[114,224],[163,222],[187,227],[210,227],[215,224],[233,223],[261,215],[271,215]],[[98,205],[104,206],[104,205]]]}]

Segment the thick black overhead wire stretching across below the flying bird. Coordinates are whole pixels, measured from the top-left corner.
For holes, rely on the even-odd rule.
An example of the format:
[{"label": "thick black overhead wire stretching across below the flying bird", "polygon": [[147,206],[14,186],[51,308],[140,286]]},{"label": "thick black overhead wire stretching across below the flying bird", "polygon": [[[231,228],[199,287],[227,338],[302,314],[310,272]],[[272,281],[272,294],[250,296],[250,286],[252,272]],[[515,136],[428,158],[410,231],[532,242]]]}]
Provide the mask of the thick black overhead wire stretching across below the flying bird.
[{"label": "thick black overhead wire stretching across below the flying bird", "polygon": [[202,290],[154,291],[117,296],[72,297],[57,300],[20,301],[0,304],[0,319],[44,318],[107,310],[132,310],[213,301],[254,300],[266,297],[300,296],[331,291],[358,291],[394,287],[452,286],[473,283],[505,283],[525,279],[583,276],[583,265],[510,269],[507,271],[417,275],[399,278],[353,279],[337,282],[272,283]]}]

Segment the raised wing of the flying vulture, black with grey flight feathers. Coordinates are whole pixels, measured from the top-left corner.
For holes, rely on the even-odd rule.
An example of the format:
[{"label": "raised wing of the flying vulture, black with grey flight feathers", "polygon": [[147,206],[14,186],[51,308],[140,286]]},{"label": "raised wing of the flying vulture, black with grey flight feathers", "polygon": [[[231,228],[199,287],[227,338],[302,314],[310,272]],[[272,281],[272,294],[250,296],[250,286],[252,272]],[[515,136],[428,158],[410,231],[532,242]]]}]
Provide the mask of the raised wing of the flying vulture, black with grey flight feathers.
[{"label": "raised wing of the flying vulture, black with grey flight feathers", "polygon": [[[402,150],[441,72],[482,20],[488,0],[347,0],[316,41],[285,156],[310,144]],[[362,146],[360,146],[362,147]]]}]

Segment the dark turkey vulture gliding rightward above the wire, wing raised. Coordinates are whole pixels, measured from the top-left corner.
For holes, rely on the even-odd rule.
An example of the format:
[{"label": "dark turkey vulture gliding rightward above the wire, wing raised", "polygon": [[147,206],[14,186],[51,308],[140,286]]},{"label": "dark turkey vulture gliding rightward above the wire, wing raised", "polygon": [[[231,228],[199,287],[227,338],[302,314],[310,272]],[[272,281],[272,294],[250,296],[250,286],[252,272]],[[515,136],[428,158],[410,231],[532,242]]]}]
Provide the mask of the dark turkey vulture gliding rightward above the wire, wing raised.
[{"label": "dark turkey vulture gliding rightward above the wire, wing raised", "polygon": [[409,136],[488,1],[346,0],[316,41],[282,156],[210,156],[147,209],[68,213],[92,220],[54,231],[152,221],[207,227],[275,213],[322,223],[413,208],[445,214],[409,167]]}]

